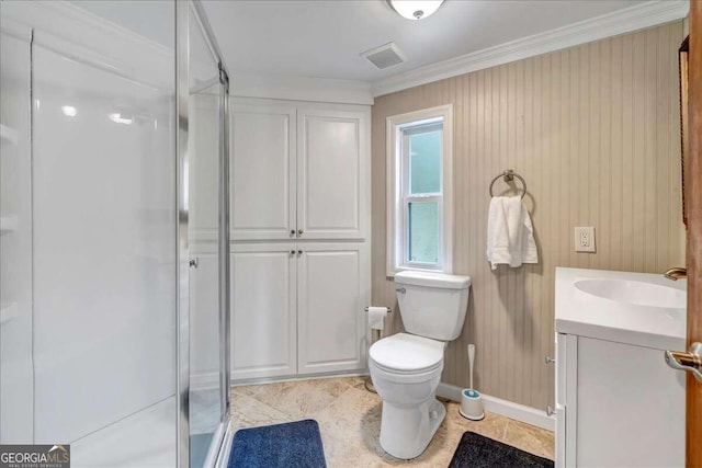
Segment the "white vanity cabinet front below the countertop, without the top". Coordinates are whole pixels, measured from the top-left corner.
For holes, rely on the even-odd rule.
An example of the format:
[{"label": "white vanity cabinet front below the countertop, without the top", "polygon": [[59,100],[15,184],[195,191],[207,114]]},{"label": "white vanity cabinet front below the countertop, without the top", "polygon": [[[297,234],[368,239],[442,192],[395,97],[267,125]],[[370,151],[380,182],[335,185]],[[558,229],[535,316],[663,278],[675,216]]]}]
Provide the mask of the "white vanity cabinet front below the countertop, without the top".
[{"label": "white vanity cabinet front below the countertop, without the top", "polygon": [[684,373],[664,350],[557,335],[556,466],[684,466]]}]

